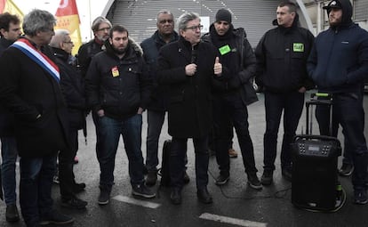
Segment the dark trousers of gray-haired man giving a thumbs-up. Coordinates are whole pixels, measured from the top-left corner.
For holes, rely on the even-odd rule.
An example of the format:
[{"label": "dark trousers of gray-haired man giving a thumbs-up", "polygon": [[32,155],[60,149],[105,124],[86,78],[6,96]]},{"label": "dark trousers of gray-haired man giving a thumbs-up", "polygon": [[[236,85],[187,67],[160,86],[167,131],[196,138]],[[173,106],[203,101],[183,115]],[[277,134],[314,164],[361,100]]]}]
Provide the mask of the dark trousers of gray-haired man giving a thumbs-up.
[{"label": "dark trousers of gray-haired man giving a thumbs-up", "polygon": [[[185,173],[185,157],[187,154],[188,138],[172,137],[172,150],[170,155],[170,180],[172,188],[182,189]],[[208,136],[193,138],[196,153],[196,189],[202,190],[208,184]]]}]

